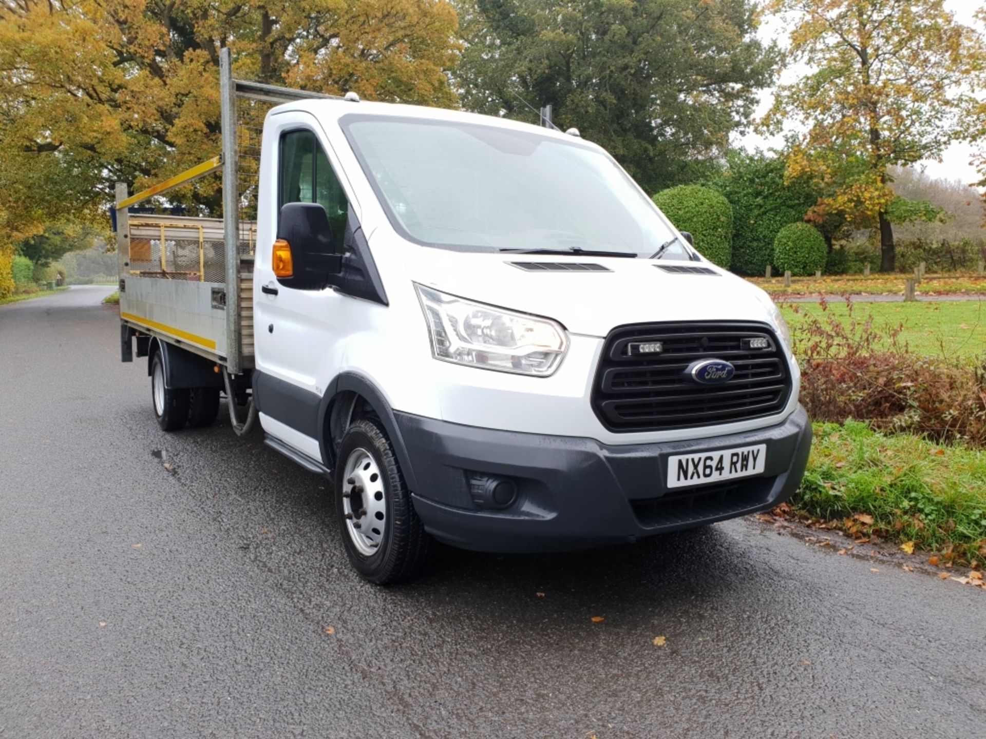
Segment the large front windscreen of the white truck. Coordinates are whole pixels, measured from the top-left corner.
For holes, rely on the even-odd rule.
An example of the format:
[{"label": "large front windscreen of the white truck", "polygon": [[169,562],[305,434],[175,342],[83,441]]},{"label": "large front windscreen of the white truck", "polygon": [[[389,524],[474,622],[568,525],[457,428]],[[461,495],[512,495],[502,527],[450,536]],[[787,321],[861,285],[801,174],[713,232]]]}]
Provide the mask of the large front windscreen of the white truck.
[{"label": "large front windscreen of the white truck", "polygon": [[[674,236],[632,180],[578,140],[416,118],[342,125],[392,225],[419,243],[648,257]],[[677,242],[663,255],[688,258]]]}]

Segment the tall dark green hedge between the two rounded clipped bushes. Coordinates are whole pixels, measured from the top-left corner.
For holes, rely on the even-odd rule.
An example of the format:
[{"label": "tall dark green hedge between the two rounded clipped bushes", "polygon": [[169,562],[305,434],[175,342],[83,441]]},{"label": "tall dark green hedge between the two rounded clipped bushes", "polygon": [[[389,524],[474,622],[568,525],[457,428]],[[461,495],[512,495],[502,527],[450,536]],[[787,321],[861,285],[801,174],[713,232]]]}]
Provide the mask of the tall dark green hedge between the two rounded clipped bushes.
[{"label": "tall dark green hedge between the two rounded clipped bushes", "polygon": [[786,168],[782,155],[734,150],[727,155],[726,167],[706,181],[733,206],[735,272],[763,275],[773,264],[777,233],[804,221],[817,200],[804,181],[785,183]]}]

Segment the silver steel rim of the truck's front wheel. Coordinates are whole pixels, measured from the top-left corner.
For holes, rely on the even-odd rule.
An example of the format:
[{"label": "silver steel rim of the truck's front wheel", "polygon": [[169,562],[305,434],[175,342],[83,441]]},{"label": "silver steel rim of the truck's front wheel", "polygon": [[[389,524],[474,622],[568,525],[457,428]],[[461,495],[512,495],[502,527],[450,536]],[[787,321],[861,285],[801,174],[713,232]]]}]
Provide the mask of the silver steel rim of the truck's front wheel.
[{"label": "silver steel rim of the truck's front wheel", "polygon": [[387,485],[373,455],[353,449],[346,460],[342,486],[342,514],[346,532],[364,557],[376,554],[387,533]]}]

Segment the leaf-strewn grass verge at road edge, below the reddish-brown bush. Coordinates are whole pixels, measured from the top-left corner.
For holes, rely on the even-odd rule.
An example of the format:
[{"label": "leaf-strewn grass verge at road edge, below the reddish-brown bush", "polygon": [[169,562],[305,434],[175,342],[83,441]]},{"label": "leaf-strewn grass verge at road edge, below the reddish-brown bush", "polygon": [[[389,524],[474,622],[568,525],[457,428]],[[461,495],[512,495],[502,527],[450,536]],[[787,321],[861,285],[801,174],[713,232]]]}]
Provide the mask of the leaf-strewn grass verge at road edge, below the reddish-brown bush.
[{"label": "leaf-strewn grass verge at road edge, below the reddish-brown bush", "polygon": [[986,451],[867,424],[815,424],[809,468],[791,509],[859,540],[879,537],[945,563],[986,562]]}]

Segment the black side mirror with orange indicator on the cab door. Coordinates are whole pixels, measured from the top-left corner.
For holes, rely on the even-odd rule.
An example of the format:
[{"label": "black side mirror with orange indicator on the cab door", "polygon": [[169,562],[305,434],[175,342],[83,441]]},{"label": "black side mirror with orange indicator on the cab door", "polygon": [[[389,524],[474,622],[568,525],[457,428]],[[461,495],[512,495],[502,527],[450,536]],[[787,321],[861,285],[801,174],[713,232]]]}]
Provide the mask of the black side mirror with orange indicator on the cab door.
[{"label": "black side mirror with orange indicator on the cab door", "polygon": [[277,281],[295,290],[322,290],[330,275],[342,272],[342,255],[332,250],[332,233],[323,207],[317,203],[282,206],[273,264]]}]

